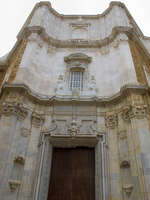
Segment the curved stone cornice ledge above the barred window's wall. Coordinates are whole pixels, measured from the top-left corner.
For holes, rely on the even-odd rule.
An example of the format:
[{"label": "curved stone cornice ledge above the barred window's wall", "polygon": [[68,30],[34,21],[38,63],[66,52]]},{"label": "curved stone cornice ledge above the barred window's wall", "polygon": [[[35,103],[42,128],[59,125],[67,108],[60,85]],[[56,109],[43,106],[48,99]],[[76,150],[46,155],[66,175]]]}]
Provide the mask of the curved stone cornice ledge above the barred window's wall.
[{"label": "curved stone cornice ledge above the barred window's wall", "polygon": [[32,26],[32,27],[26,27],[22,34],[20,35],[19,40],[23,39],[24,37],[29,36],[31,33],[37,33],[41,36],[41,38],[50,43],[52,46],[59,47],[59,48],[100,48],[103,46],[108,45],[109,43],[113,42],[113,40],[116,38],[116,36],[120,33],[126,34],[128,37],[131,37],[133,35],[133,28],[131,27],[123,27],[123,26],[117,26],[112,29],[111,34],[102,39],[102,40],[82,40],[82,39],[76,39],[76,40],[58,40],[55,39],[47,34],[45,31],[45,28],[41,26]]}]

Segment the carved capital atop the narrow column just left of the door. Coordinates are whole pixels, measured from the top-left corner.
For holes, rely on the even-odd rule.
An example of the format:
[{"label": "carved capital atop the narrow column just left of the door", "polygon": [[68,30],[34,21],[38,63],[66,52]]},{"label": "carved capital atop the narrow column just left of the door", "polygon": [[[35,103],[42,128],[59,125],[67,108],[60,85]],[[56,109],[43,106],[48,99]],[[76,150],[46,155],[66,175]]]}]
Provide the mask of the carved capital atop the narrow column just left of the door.
[{"label": "carved capital atop the narrow column just left of the door", "polygon": [[39,128],[40,126],[43,125],[45,118],[43,114],[38,114],[36,112],[33,112],[31,121],[32,121],[33,126]]}]

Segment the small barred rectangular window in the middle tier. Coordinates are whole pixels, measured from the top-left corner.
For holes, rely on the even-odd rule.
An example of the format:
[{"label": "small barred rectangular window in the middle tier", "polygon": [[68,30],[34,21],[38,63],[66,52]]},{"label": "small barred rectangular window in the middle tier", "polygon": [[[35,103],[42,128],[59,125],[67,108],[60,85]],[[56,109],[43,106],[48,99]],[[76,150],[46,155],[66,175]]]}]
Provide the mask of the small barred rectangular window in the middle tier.
[{"label": "small barred rectangular window in the middle tier", "polygon": [[70,89],[83,89],[83,71],[70,72]]}]

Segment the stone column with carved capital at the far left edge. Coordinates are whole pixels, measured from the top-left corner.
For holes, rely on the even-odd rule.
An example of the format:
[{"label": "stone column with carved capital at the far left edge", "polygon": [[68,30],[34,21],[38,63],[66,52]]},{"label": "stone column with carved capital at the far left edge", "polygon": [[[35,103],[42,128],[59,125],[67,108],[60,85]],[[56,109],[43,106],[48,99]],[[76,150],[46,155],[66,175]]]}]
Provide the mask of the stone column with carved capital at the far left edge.
[{"label": "stone column with carved capital at the far left edge", "polygon": [[[20,135],[21,124],[24,123],[25,118],[27,117],[27,109],[20,103],[17,102],[4,102],[2,108],[2,117],[1,117],[1,134],[0,141],[0,157],[3,166],[1,168],[1,194],[3,199],[16,199],[17,193],[21,184],[21,176],[23,171],[22,163],[17,164],[15,155],[18,150],[18,142]],[[4,160],[3,160],[4,158]],[[19,160],[20,162],[20,160]],[[4,188],[4,189],[3,189]]]}]

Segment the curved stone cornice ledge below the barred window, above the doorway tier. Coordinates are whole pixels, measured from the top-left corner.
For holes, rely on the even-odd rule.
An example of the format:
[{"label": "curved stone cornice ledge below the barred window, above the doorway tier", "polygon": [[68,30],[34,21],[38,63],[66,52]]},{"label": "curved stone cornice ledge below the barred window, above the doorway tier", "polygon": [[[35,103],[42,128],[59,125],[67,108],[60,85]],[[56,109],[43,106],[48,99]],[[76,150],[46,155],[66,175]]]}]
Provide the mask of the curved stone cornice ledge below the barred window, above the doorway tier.
[{"label": "curved stone cornice ledge below the barred window, above the doorway tier", "polygon": [[119,101],[122,99],[124,96],[128,95],[128,92],[134,92],[134,93],[140,93],[140,94],[145,94],[149,92],[148,86],[145,85],[124,85],[120,91],[114,95],[111,96],[104,96],[104,97],[99,97],[99,96],[82,96],[82,97],[72,97],[72,96],[48,96],[48,95],[42,95],[39,93],[36,93],[35,91],[32,91],[27,85],[25,84],[7,84],[5,83],[3,88],[2,88],[2,93],[5,90],[18,90],[18,91],[23,91],[25,95],[27,95],[29,98],[33,99],[35,102],[38,103],[44,103],[44,104],[51,104],[54,101],[77,101],[77,102],[97,102],[100,104],[104,103],[112,103]]}]

